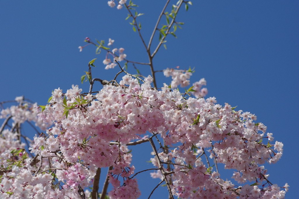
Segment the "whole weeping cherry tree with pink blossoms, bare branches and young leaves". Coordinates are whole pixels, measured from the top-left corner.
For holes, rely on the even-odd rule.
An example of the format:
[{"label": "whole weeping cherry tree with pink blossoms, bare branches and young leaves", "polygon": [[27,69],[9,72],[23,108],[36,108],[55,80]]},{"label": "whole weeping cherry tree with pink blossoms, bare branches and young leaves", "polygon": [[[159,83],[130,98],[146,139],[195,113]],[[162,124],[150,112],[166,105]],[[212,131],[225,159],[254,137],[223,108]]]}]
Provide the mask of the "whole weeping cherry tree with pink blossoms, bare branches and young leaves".
[{"label": "whole weeping cherry tree with pink blossoms, bare branches and young leaves", "polygon": [[[194,69],[156,70],[153,66],[161,45],[166,48],[166,37],[176,37],[183,24],[176,21],[180,8],[187,11],[190,5],[191,1],[183,0],[170,5],[167,0],[146,45],[137,5],[108,1],[111,8],[127,9],[126,19],[132,20],[149,62],[128,60],[124,48],[110,48],[115,42],[111,38],[105,46],[103,40],[86,37],[96,54],[106,52],[105,69],[119,68],[114,79],[93,78],[98,64],[93,59],[81,77],[82,83],[90,84],[89,91],[73,85],[65,93],[54,89],[45,105],[24,97],[17,97],[16,104],[7,108],[4,104],[12,101],[1,103],[0,198],[138,198],[142,194],[138,181],[144,180],[137,180],[138,174],[145,171],[161,181],[143,198],[150,198],[162,184],[169,198],[284,198],[288,184],[271,183],[264,165],[280,159],[283,144],[274,142],[264,124],[255,122],[257,116],[216,104],[215,97],[205,99],[204,78],[180,92],[177,87],[190,85]],[[160,25],[164,17],[167,25]],[[159,43],[152,47],[155,34]],[[87,45],[79,46],[80,51]],[[148,66],[151,74],[141,75],[135,65]],[[137,75],[129,74],[128,67],[134,67]],[[171,77],[171,84],[157,85],[157,72]],[[97,81],[103,89],[93,91]],[[20,131],[25,122],[36,131],[33,140]],[[148,151],[152,168],[135,168],[131,165],[134,146],[145,142],[152,147]],[[235,182],[220,177],[219,163],[236,170]],[[99,191],[101,168],[109,169]],[[112,190],[107,193],[109,184]]]}]

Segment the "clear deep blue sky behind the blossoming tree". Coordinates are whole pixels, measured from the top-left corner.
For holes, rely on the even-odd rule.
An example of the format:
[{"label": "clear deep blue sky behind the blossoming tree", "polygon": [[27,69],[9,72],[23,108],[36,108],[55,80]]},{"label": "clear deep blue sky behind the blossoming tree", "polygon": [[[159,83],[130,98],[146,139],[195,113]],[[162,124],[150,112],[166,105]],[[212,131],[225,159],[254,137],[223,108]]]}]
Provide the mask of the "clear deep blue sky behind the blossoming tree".
[{"label": "clear deep blue sky behind the blossoming tree", "polygon": [[[141,34],[146,43],[153,31],[164,1],[134,1],[139,5]],[[170,1],[175,4],[176,1]],[[298,185],[298,65],[299,1],[193,1],[186,12],[179,11],[177,21],[184,22],[176,31],[177,39],[167,37],[167,50],[159,49],[153,60],[155,70],[195,67],[190,81],[207,80],[207,97],[219,104],[229,103],[236,109],[254,113],[283,142],[280,161],[266,165],[269,180],[290,185],[286,198],[295,198]],[[167,9],[170,11],[170,8]],[[88,92],[81,84],[88,62],[97,58],[93,77],[113,79],[119,69],[105,70],[105,53],[95,54],[91,45],[79,52],[85,37],[91,40],[115,40],[114,48],[124,48],[128,60],[147,62],[138,34],[132,31],[127,11],[110,8],[107,1],[1,1],[0,2],[0,101],[25,95],[38,104],[46,104],[51,91],[60,87],[66,92],[72,84]],[[162,19],[161,24],[166,24]],[[161,27],[161,25],[160,25]],[[156,46],[158,37],[152,46]],[[153,49],[151,49],[153,51]],[[143,75],[147,66],[138,66]],[[136,73],[132,65],[128,71]],[[171,78],[157,75],[158,87]],[[100,90],[94,84],[94,91]],[[28,135],[35,134],[26,130]],[[133,149],[136,171],[149,160],[150,146]],[[135,158],[135,159],[134,159]],[[139,168],[140,166],[140,168]],[[225,170],[230,179],[233,171]],[[106,171],[102,171],[103,180]],[[139,174],[138,174],[139,175]],[[159,182],[149,173],[137,177],[147,198]],[[100,182],[100,185],[102,181]],[[159,188],[153,198],[167,197]],[[165,194],[166,193],[166,194]]]}]

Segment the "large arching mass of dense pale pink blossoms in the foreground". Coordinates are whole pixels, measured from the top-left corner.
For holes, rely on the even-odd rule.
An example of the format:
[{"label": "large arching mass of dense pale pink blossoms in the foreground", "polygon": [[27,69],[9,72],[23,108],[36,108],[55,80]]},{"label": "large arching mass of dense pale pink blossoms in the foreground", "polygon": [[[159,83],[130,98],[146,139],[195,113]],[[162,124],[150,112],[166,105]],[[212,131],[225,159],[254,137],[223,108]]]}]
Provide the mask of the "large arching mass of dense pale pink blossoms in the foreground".
[{"label": "large arching mass of dense pale pink blossoms in the foreground", "polygon": [[[120,86],[104,85],[96,95],[80,94],[77,85],[65,94],[55,89],[38,114],[53,126],[45,136],[35,136],[30,148],[39,161],[32,164],[34,159],[23,156],[24,163],[16,166],[16,155],[2,152],[7,172],[0,179],[0,198],[79,198],[77,187],[89,186],[97,168],[109,166],[113,189],[108,196],[138,198],[127,144],[147,132],[160,134],[168,146],[158,153],[159,159],[151,159],[157,167],[162,162],[168,173],[159,170],[151,175],[161,179],[166,175],[179,198],[284,198],[285,191],[269,185],[262,165],[275,163],[283,144],[270,144],[272,134],[265,134],[262,123],[254,123],[255,115],[235,111],[229,104],[222,107],[215,97],[186,99],[166,84],[158,90],[151,83],[151,76],[139,84],[125,75]],[[215,163],[237,170],[233,178],[238,183],[253,181],[254,186],[237,187],[222,180],[200,158],[207,149]],[[287,191],[287,184],[284,188]]]}]

